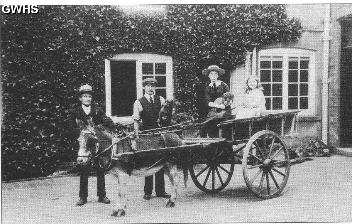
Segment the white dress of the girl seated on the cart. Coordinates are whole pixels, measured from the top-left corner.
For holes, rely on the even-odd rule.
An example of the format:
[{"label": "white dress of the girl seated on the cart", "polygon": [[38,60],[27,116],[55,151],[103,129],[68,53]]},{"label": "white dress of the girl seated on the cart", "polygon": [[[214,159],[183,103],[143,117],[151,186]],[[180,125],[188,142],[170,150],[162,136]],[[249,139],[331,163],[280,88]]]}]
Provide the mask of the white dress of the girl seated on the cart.
[{"label": "white dress of the girl seated on the cart", "polygon": [[243,118],[249,118],[249,117],[255,117],[259,115],[258,112],[262,110],[266,110],[265,107],[265,97],[263,92],[255,88],[249,93],[245,94],[243,103],[248,104],[249,107],[242,106],[236,115],[236,119],[243,119]]}]

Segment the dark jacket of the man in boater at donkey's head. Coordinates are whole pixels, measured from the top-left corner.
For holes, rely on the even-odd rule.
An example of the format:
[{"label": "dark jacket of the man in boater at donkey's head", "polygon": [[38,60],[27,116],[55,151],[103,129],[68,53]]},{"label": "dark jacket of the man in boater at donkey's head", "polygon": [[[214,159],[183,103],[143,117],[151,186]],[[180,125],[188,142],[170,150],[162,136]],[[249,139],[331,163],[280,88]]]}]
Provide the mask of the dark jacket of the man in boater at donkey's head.
[{"label": "dark jacket of the man in boater at donkey's head", "polygon": [[80,130],[78,129],[76,118],[82,120],[84,124],[88,124],[87,120],[89,117],[93,118],[93,123],[95,125],[103,124],[106,128],[114,130],[117,126],[114,124],[111,118],[107,117],[105,112],[101,107],[90,106],[90,113],[87,115],[84,112],[82,105],[79,105],[71,110],[69,110],[68,115],[68,135],[70,139],[76,139]]}]

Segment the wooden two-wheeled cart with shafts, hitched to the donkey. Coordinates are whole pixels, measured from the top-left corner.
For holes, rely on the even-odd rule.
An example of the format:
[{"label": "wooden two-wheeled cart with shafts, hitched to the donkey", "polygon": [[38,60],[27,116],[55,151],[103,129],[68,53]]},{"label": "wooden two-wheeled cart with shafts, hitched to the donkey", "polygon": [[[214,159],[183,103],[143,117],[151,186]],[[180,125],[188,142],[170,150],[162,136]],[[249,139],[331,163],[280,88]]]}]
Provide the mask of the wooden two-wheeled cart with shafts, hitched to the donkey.
[{"label": "wooden two-wheeled cart with shafts, hitched to the donkey", "polygon": [[[218,124],[219,138],[183,138],[182,146],[140,151],[138,154],[187,153],[191,179],[203,192],[216,193],[230,182],[241,164],[248,188],[261,199],[277,197],[289,173],[289,151],[284,138],[297,133],[297,113],[290,111],[227,120]],[[187,125],[186,125],[187,126]],[[133,155],[136,152],[113,155]],[[142,155],[143,156],[143,155]]]}]

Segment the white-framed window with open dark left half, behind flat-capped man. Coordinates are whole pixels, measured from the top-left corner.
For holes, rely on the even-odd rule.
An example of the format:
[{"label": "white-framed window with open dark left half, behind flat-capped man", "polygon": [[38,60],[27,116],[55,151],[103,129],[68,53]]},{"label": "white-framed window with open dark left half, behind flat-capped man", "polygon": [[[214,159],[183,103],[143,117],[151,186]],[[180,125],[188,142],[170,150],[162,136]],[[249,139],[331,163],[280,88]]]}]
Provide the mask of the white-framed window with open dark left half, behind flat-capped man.
[{"label": "white-framed window with open dark left half, behind flat-capped man", "polygon": [[158,81],[156,95],[173,97],[172,57],[146,53],[114,55],[105,60],[106,115],[114,122],[133,122],[133,103],[143,97],[142,80]]}]

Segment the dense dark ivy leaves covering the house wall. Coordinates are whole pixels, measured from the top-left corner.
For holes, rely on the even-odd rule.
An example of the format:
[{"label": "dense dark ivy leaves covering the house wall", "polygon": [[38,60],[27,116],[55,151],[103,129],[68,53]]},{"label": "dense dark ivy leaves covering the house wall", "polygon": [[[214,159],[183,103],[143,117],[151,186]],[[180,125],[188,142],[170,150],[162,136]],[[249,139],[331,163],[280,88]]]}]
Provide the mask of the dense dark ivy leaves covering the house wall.
[{"label": "dense dark ivy leaves covering the house wall", "polygon": [[105,106],[109,56],[172,56],[179,122],[202,109],[202,69],[217,64],[229,71],[254,46],[294,41],[300,33],[283,5],[170,5],[158,15],[127,15],[118,6],[40,6],[36,15],[1,14],[2,178],[48,175],[75,155],[68,110],[86,83],[99,93],[95,104]]}]

